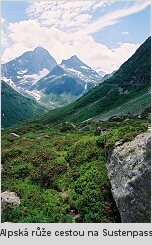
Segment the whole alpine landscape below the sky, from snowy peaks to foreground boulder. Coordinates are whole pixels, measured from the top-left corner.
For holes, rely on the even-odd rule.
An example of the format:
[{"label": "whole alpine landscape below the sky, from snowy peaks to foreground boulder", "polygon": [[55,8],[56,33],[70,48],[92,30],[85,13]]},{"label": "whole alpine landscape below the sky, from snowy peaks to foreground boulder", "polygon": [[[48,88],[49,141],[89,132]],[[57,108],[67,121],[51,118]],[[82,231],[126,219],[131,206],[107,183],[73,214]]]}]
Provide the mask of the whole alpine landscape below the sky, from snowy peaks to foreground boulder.
[{"label": "whole alpine landscape below the sky, from snowy peaks to foreground boulder", "polygon": [[151,222],[151,37],[105,77],[37,47],[2,80],[2,223]]}]

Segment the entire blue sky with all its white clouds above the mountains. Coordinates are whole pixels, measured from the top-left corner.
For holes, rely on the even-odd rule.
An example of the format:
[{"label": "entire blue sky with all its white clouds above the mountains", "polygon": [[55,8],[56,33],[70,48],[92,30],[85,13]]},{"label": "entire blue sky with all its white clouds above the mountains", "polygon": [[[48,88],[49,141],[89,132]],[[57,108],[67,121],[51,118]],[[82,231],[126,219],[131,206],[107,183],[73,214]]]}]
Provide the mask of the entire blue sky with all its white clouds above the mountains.
[{"label": "entire blue sky with all its white clouds above the mountains", "polygon": [[110,73],[151,35],[151,1],[1,1],[2,63],[37,46]]}]

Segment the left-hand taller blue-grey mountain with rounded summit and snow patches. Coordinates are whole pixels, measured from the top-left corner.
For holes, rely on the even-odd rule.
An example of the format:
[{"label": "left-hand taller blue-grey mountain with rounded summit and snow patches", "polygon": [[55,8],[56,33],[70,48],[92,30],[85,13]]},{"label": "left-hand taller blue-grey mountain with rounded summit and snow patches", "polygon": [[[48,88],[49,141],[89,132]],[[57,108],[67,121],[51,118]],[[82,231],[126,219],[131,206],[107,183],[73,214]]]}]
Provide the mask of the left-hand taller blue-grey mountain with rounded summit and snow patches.
[{"label": "left-hand taller blue-grey mountain with rounded summit and snow patches", "polygon": [[25,52],[14,60],[2,64],[2,80],[21,94],[28,95],[29,88],[56,64],[55,59],[46,49],[37,47],[34,51]]}]

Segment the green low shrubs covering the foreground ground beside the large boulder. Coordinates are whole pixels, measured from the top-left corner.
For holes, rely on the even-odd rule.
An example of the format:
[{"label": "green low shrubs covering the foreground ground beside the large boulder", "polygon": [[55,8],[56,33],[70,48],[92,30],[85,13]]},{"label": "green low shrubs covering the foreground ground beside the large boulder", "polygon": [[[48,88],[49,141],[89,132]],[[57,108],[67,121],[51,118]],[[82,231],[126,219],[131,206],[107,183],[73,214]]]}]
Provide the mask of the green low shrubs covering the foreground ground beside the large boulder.
[{"label": "green low shrubs covering the foreground ground beside the large boulder", "polygon": [[[148,124],[138,119],[2,131],[1,190],[14,191],[21,200],[19,207],[3,210],[2,222],[120,223],[107,177],[105,137],[108,150],[146,131]],[[94,136],[98,126],[106,132]]]}]

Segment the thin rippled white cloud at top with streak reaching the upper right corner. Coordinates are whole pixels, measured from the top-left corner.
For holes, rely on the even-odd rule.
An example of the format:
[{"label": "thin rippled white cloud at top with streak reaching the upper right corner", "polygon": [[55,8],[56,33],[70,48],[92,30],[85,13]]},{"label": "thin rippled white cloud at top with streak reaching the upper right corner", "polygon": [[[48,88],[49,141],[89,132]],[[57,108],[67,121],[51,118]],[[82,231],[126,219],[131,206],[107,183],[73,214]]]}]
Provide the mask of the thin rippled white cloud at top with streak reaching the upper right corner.
[{"label": "thin rippled white cloud at top with streak reaching the upper right corner", "polygon": [[[112,5],[113,1],[32,1],[27,9],[30,18],[36,18],[42,26],[55,26],[62,31],[84,30],[95,33],[116,24],[120,18],[138,13],[146,8],[150,1],[135,1],[123,9],[109,12],[98,19],[91,20],[92,13]],[[62,24],[61,24],[62,23]],[[88,26],[89,24],[89,26]]]}]

